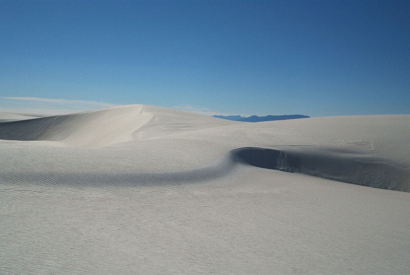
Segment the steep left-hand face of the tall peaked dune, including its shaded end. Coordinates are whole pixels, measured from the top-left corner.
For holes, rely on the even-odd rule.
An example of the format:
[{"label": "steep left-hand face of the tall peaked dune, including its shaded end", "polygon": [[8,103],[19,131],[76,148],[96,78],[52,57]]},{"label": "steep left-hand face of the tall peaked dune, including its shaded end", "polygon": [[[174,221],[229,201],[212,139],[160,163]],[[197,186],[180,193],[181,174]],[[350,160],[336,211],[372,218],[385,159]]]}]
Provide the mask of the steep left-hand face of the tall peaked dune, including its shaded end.
[{"label": "steep left-hand face of the tall peaked dune, including its shaded end", "polygon": [[[132,134],[153,118],[144,105],[0,123],[0,139],[51,141],[51,146],[103,147],[133,141]],[[53,143],[54,142],[54,143]]]}]

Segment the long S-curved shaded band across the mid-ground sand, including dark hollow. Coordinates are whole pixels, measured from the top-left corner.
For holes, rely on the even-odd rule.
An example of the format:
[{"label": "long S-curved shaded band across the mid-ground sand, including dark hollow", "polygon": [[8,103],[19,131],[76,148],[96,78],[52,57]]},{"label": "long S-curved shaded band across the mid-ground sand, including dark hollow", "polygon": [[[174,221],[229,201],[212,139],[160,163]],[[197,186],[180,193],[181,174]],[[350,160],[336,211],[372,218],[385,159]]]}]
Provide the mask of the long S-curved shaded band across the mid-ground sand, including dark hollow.
[{"label": "long S-curved shaded band across the mid-ground sand, including dark hollow", "polygon": [[410,169],[397,162],[325,150],[292,151],[260,147],[237,148],[212,166],[186,171],[24,174],[0,172],[0,183],[92,187],[177,185],[221,178],[238,165],[252,165],[361,186],[410,192]]}]

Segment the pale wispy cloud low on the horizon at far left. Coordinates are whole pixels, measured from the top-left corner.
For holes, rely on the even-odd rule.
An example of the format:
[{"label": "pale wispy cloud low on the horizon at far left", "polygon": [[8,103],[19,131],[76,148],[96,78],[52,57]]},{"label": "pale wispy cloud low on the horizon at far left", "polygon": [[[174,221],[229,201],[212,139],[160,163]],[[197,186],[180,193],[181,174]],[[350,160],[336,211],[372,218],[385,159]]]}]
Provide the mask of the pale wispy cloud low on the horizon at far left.
[{"label": "pale wispy cloud low on the horizon at far left", "polygon": [[61,114],[93,109],[114,107],[114,104],[66,99],[46,99],[43,97],[0,97],[0,108],[8,112]]}]

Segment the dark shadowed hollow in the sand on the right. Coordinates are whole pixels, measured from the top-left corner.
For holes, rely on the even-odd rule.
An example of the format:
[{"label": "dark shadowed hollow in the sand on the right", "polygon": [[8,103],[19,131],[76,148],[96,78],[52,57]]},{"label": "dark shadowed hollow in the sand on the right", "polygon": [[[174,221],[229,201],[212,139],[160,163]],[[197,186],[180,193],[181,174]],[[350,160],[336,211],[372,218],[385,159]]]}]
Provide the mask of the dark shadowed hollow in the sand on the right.
[{"label": "dark shadowed hollow in the sand on the right", "polygon": [[381,189],[410,191],[409,168],[389,160],[343,152],[283,151],[257,147],[235,149],[231,154],[239,162],[256,167]]}]

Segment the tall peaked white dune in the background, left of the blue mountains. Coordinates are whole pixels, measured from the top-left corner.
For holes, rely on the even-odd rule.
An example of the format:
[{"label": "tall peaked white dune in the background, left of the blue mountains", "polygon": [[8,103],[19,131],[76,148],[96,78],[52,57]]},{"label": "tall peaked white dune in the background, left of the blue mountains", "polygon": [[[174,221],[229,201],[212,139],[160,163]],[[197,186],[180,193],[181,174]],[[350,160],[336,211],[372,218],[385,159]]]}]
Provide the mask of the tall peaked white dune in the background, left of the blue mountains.
[{"label": "tall peaked white dune in the background, left of the blue mountains", "polygon": [[[153,120],[153,135],[162,132],[207,129],[232,125],[213,117],[148,105],[125,105],[109,109],[36,119],[0,122],[0,139],[58,141],[53,146],[103,147],[143,138],[133,134]],[[155,123],[156,122],[156,123]],[[161,126],[156,127],[160,124]],[[146,127],[145,132],[148,132]],[[151,127],[152,128],[152,127]],[[145,138],[145,137],[144,137]]]}]

